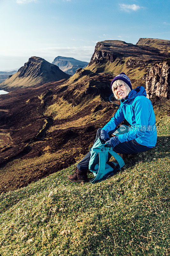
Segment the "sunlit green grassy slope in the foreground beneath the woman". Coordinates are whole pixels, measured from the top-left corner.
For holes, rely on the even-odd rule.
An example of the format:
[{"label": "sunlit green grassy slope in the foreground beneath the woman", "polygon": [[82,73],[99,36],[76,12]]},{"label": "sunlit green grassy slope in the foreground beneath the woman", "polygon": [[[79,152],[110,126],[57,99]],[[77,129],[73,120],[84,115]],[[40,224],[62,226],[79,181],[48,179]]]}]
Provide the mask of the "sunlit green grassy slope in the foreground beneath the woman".
[{"label": "sunlit green grassy slope in the foreground beneath the woman", "polygon": [[0,255],[169,255],[169,123],[108,180],[72,184],[72,166],[2,194]]}]

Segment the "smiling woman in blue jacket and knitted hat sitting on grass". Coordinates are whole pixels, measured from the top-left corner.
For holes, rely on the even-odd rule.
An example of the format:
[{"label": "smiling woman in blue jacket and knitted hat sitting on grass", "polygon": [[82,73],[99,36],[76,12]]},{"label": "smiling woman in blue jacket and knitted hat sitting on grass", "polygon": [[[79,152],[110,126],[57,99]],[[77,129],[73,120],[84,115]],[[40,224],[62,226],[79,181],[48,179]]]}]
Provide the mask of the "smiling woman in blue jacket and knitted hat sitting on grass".
[{"label": "smiling woman in blue jacket and knitted hat sitting on grass", "polygon": [[[154,148],[157,141],[156,120],[152,102],[146,98],[144,87],[138,86],[132,90],[130,79],[125,73],[116,76],[111,87],[115,98],[121,101],[121,105],[114,117],[103,128],[98,129],[95,141],[100,136],[108,147],[113,147],[113,150],[120,154],[135,154]],[[129,122],[131,129],[110,138],[109,135],[124,119]],[[68,180],[88,181],[89,160],[90,152],[78,163],[75,172],[68,176]]]}]

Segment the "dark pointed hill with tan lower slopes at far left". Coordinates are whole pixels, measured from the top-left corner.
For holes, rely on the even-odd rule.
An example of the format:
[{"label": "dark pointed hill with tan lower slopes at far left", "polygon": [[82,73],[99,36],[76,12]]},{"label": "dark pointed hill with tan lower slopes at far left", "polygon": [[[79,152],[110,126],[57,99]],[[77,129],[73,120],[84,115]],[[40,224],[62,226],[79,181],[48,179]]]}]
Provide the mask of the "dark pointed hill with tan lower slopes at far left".
[{"label": "dark pointed hill with tan lower slopes at far left", "polygon": [[16,74],[9,76],[1,83],[0,87],[8,88],[8,90],[11,87],[23,88],[68,79],[69,77],[70,75],[64,73],[56,65],[34,56],[29,58],[28,62],[26,62],[23,67],[19,68]]}]

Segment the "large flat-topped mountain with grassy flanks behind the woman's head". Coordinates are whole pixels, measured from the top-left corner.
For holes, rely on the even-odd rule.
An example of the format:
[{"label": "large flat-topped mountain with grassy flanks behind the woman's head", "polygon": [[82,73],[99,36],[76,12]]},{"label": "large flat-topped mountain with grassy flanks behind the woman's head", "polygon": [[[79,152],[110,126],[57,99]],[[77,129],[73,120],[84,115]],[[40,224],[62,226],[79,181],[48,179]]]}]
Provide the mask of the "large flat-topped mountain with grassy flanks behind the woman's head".
[{"label": "large flat-topped mountain with grassy flanks behind the woman's head", "polygon": [[137,44],[106,40],[96,44],[90,63],[85,69],[96,73],[107,72],[113,76],[124,72],[129,76],[133,89],[139,85],[145,87],[144,78],[148,69],[155,62],[167,59],[169,52],[169,40],[140,38]]}]

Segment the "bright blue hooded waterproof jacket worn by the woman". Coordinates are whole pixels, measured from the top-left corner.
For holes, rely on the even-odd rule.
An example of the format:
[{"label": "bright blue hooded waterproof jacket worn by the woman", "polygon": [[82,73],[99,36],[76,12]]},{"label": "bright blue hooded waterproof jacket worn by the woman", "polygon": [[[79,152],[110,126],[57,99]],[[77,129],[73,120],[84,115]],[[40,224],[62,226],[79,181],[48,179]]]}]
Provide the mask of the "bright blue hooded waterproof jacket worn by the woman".
[{"label": "bright blue hooded waterproof jacket worn by the woman", "polygon": [[126,119],[131,128],[118,136],[120,142],[135,139],[141,145],[155,147],[157,141],[155,113],[151,100],[146,98],[144,87],[138,86],[131,90],[128,96],[120,101],[120,108],[102,129],[110,132]]}]

